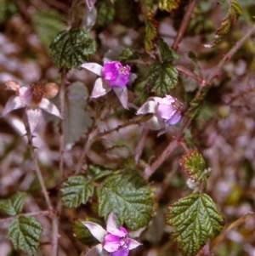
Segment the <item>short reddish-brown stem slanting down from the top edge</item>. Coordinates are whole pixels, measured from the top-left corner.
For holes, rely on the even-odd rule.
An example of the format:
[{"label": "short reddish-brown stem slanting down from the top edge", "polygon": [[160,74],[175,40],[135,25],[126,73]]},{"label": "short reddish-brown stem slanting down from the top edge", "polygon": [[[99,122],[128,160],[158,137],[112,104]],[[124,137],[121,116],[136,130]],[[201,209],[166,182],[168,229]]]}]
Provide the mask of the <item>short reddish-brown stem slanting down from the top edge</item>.
[{"label": "short reddish-brown stem slanting down from the top edge", "polygon": [[188,5],[188,9],[185,12],[182,24],[179,27],[177,36],[175,37],[175,40],[173,42],[172,48],[175,51],[178,50],[178,44],[182,41],[182,39],[184,37],[184,32],[185,32],[187,26],[189,25],[190,17],[191,17],[191,14],[193,12],[193,9],[195,8],[196,3],[197,3],[197,0],[190,0],[190,3]]}]

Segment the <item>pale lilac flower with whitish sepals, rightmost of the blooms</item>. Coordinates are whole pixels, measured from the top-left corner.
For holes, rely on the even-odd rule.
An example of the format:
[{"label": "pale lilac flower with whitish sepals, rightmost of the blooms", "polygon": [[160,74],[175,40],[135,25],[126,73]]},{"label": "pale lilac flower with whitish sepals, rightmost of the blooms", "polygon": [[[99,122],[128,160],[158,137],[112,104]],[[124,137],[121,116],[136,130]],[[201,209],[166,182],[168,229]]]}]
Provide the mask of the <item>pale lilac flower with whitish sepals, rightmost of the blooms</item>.
[{"label": "pale lilac flower with whitish sepals, rightmost of the blooms", "polygon": [[138,115],[148,113],[155,114],[148,122],[144,123],[145,128],[159,130],[176,124],[181,118],[183,104],[170,95],[165,98],[151,97],[137,111]]}]

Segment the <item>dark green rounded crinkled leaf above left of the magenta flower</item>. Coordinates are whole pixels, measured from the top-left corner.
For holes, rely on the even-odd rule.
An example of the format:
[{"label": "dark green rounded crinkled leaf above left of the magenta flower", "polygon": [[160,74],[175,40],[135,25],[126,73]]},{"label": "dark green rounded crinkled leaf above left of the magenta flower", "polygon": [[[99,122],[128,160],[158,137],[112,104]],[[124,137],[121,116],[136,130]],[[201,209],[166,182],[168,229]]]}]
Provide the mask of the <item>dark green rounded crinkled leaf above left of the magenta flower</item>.
[{"label": "dark green rounded crinkled leaf above left of the magenta flower", "polygon": [[67,68],[78,68],[96,50],[94,39],[80,27],[59,32],[50,48],[54,62],[59,67]]}]

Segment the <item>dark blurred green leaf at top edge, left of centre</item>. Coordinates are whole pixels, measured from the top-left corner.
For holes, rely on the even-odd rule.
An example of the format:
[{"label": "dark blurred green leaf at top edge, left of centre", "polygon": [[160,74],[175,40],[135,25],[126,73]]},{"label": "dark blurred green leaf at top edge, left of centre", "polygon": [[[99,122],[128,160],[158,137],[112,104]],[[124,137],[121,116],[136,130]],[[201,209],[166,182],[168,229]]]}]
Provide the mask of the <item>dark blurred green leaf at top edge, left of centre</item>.
[{"label": "dark blurred green leaf at top edge, left of centre", "polygon": [[115,8],[110,0],[100,1],[97,5],[97,26],[107,26],[115,18]]}]

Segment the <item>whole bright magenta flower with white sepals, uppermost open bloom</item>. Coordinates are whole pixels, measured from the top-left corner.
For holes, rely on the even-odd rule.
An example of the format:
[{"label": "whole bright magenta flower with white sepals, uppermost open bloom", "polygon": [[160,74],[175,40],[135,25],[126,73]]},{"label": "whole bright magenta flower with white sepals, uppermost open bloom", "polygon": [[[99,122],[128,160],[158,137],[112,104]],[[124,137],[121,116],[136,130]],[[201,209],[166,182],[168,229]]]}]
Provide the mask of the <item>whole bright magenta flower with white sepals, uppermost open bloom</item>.
[{"label": "whole bright magenta flower with white sepals, uppermost open bloom", "polygon": [[84,63],[81,66],[99,76],[90,98],[99,98],[113,89],[122,106],[127,108],[126,84],[130,80],[129,65],[123,66],[119,61],[108,61],[104,66],[97,63]]}]

